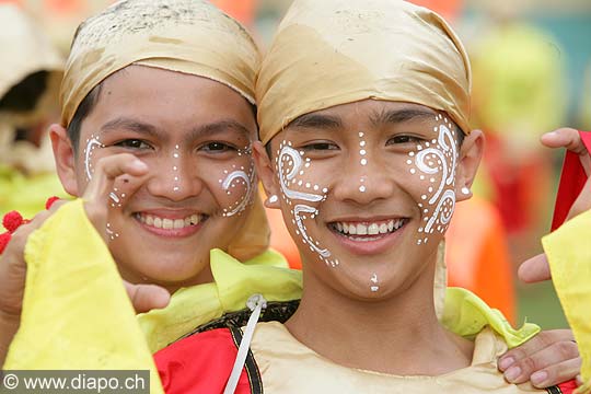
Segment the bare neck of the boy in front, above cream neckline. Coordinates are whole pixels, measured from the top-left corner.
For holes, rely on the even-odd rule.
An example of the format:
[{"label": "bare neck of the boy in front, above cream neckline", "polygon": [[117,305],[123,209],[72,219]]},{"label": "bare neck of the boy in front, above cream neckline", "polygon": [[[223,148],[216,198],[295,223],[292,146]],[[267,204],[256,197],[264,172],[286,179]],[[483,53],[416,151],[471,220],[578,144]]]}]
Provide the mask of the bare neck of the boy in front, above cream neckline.
[{"label": "bare neck of the boy in front, above cream neckline", "polygon": [[352,299],[304,270],[302,301],[286,326],[318,355],[349,368],[439,375],[468,367],[472,343],[447,332],[437,320],[433,271],[391,297],[368,301]]}]

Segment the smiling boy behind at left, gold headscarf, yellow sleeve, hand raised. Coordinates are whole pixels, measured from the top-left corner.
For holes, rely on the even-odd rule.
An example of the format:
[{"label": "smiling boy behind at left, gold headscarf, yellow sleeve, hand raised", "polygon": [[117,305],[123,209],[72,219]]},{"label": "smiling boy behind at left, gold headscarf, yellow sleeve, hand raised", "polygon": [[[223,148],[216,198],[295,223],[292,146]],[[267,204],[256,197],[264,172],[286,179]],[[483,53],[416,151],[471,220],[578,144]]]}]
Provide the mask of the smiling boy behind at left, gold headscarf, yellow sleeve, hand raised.
[{"label": "smiling boy behind at left, gold headscarf, yellow sleeve, hand raised", "polygon": [[[250,287],[299,297],[300,276],[276,269],[287,264],[267,250],[256,188],[258,61],[244,28],[208,1],[120,1],[80,26],[50,136],[63,187],[84,201],[31,236],[47,213],[23,225],[0,260],[2,341],[20,325],[4,368],[151,362],[151,351],[244,309]],[[121,278],[174,292],[138,317],[148,347]]]}]

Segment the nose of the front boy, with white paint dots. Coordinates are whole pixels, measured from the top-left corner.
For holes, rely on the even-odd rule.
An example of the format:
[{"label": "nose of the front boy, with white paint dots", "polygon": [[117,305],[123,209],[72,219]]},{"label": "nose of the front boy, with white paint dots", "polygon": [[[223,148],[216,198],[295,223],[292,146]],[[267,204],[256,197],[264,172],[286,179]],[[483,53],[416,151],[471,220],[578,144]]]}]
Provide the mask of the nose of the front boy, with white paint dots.
[{"label": "nose of the front boy, with white paint dots", "polygon": [[395,188],[395,181],[385,173],[385,165],[380,159],[368,154],[349,157],[345,171],[340,172],[333,195],[341,201],[368,205],[375,200],[390,198]]}]

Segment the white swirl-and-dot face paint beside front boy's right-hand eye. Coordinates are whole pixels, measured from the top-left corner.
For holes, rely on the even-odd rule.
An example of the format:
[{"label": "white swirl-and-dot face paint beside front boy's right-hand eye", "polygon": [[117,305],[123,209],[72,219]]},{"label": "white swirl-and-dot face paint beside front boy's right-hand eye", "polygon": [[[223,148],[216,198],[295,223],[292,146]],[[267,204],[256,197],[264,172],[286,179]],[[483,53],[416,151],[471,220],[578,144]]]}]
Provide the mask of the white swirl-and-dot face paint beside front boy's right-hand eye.
[{"label": "white swirl-and-dot face paint beside front boy's right-hand eye", "polygon": [[[457,141],[452,123],[442,115],[437,115],[436,120],[440,124],[433,128],[437,139],[426,142],[426,148],[417,146],[417,151],[409,152],[410,159],[407,164],[412,174],[419,174],[421,181],[429,178],[425,193],[420,196],[422,202],[418,207],[424,215],[425,227],[419,228],[417,244],[429,241],[429,234],[436,230],[445,232],[455,209],[455,166],[457,161]],[[414,158],[414,160],[413,160]],[[437,177],[439,185],[437,185]],[[437,190],[436,190],[437,185]]]}]

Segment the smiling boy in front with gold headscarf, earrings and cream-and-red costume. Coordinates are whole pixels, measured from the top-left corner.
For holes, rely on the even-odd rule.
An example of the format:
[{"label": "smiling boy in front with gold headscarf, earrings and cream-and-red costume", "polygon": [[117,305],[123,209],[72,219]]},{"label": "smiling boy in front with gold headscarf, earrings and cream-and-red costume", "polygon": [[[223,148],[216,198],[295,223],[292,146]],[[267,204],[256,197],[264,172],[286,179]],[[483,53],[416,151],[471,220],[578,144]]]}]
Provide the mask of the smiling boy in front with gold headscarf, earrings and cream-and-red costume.
[{"label": "smiling boy in front with gold headscarf, earrings and cream-and-red costume", "polygon": [[[167,393],[558,390],[497,369],[531,326],[508,329],[461,289],[437,308],[438,250],[484,141],[468,127],[470,84],[462,44],[427,9],[294,1],[257,79],[254,149],[266,205],[300,248],[301,303],[285,324],[251,321],[161,350]],[[470,327],[452,334],[459,320]]]}]

